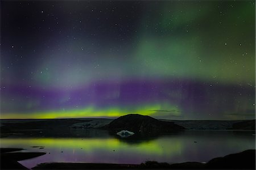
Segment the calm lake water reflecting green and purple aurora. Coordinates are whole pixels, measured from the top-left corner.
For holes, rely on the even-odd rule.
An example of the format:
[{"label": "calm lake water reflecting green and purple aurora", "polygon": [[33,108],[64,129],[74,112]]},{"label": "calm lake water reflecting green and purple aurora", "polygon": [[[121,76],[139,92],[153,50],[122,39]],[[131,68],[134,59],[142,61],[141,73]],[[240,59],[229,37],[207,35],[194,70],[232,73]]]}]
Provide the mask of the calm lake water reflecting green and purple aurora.
[{"label": "calm lake water reflecting green and purple aurora", "polygon": [[[120,139],[108,131],[93,130],[87,137],[1,138],[1,147],[25,148],[23,152],[47,152],[20,161],[25,167],[46,162],[140,164],[158,162],[208,162],[218,156],[255,149],[253,131],[183,131],[157,138]],[[81,131],[79,132],[81,133]],[[43,146],[43,148],[32,147]]]}]

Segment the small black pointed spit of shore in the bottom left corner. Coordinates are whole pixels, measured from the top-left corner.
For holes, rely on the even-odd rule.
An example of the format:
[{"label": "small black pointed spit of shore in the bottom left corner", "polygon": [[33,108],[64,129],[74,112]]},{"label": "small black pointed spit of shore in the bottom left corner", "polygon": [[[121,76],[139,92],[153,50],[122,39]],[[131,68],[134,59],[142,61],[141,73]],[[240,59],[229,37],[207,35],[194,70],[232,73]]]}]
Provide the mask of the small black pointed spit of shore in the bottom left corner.
[{"label": "small black pointed spit of shore in the bottom left corner", "polygon": [[14,152],[23,150],[22,148],[1,148],[1,164],[0,169],[28,169],[19,160],[35,158],[46,153],[44,152]]}]

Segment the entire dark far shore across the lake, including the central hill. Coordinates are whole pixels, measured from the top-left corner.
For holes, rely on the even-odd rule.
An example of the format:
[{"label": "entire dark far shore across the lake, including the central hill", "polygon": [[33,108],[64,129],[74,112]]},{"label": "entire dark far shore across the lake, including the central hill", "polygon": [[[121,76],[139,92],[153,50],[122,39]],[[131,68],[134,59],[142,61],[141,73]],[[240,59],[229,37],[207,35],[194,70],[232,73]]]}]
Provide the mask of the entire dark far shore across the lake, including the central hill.
[{"label": "entire dark far shore across the lake, including the central hill", "polygon": [[[130,116],[129,116],[130,115]],[[134,118],[131,115],[137,115]],[[142,130],[144,132],[155,129],[156,131],[174,131],[177,129],[186,130],[254,130],[255,120],[236,120],[236,121],[214,121],[214,120],[156,120],[149,116],[139,114],[128,114],[126,116],[113,118],[61,118],[61,119],[34,119],[34,120],[0,120],[1,137],[7,137],[9,134],[31,135],[33,137],[75,137],[78,130],[85,129],[104,129],[109,126],[110,129],[126,128],[121,122],[127,125],[127,128]],[[139,124],[139,127],[137,125]],[[159,126],[159,124],[161,125]],[[152,124],[152,125],[150,125]],[[156,127],[159,126],[159,127]],[[166,128],[167,127],[167,128]],[[74,133],[74,130],[75,133]],[[126,129],[129,130],[129,129]],[[149,131],[150,131],[149,130]],[[82,135],[81,133],[80,135]]]}]

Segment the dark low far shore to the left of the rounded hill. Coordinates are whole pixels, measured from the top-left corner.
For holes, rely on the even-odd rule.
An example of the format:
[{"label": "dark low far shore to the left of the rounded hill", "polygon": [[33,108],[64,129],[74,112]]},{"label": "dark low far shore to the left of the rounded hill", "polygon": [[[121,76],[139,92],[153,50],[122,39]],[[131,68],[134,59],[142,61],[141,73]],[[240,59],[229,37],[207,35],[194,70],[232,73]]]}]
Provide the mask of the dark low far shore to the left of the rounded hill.
[{"label": "dark low far shore to the left of the rounded hill", "polygon": [[[105,126],[113,119],[104,118],[64,118],[43,120],[1,120],[1,137],[10,135],[21,137],[86,137],[93,136],[98,127]],[[92,124],[94,122],[94,124]],[[83,128],[84,124],[92,124],[92,128]],[[96,125],[97,124],[97,125]],[[81,128],[79,128],[81,126]],[[77,127],[77,128],[76,128]],[[100,130],[97,130],[100,133]],[[103,133],[104,138],[106,133]]]}]

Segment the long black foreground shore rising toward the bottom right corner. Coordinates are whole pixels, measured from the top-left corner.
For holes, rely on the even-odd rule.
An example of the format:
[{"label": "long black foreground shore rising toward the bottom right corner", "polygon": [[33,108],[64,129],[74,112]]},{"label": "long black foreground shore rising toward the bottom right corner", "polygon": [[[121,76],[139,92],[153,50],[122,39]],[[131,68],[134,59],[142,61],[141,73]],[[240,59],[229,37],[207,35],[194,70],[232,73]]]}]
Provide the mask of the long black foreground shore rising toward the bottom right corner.
[{"label": "long black foreground shore rising toward the bottom right corner", "polygon": [[208,163],[178,164],[146,162],[142,164],[42,163],[32,169],[255,169],[255,150],[214,158]]}]

